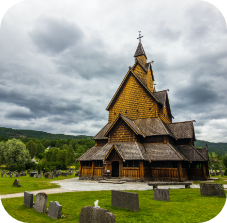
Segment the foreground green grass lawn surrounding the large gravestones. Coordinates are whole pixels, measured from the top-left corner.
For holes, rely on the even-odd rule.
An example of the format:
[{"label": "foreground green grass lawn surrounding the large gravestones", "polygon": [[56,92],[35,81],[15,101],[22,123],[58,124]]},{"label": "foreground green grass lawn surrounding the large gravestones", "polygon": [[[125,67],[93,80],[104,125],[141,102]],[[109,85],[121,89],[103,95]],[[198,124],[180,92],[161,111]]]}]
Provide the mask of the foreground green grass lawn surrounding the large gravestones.
[{"label": "foreground green grass lawn surrounding the large gravestones", "polygon": [[[79,214],[84,206],[94,206],[99,200],[101,208],[115,215],[117,223],[123,222],[168,222],[203,223],[214,219],[226,204],[226,197],[205,197],[199,189],[170,189],[170,202],[155,201],[153,190],[130,191],[139,194],[139,212],[111,207],[111,191],[70,192],[48,195],[49,201],[62,205],[62,215],[66,218],[52,219],[23,205],[24,198],[10,198],[1,201],[9,216],[19,222],[79,222]],[[34,196],[35,201],[35,196]]]}]

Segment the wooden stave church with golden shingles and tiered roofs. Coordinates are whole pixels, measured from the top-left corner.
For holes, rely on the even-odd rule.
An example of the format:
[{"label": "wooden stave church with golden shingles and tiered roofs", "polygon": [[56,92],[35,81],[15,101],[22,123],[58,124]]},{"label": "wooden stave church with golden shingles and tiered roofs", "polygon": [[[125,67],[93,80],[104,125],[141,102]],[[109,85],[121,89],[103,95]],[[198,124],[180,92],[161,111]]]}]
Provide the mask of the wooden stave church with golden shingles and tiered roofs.
[{"label": "wooden stave church with golden shingles and tiered roofs", "polygon": [[78,158],[79,177],[207,180],[207,148],[194,147],[193,121],[172,122],[167,90],[155,90],[152,64],[138,39],[135,63],[106,108],[108,123]]}]

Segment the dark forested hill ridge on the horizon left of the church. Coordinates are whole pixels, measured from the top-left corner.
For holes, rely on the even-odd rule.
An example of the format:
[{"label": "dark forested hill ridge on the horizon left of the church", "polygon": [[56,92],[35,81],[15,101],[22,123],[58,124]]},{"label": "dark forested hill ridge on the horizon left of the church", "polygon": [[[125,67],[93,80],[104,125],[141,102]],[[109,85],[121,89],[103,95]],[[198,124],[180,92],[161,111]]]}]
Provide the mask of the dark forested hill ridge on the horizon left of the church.
[{"label": "dark forested hill ridge on the horizon left of the church", "polygon": [[25,129],[11,129],[0,127],[0,137],[3,138],[34,138],[34,139],[86,139],[87,137],[92,138],[93,136],[85,136],[85,135],[64,135],[64,134],[51,134],[42,131],[35,131],[35,130],[25,130]]}]

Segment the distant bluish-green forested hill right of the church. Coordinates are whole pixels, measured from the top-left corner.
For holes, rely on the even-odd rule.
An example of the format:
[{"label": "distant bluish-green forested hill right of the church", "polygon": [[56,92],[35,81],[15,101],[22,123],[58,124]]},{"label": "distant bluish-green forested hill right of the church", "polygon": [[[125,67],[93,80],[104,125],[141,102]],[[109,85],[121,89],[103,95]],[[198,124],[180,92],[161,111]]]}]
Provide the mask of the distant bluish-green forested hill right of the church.
[{"label": "distant bluish-green forested hill right of the church", "polygon": [[208,146],[208,152],[215,152],[217,154],[220,154],[221,156],[224,156],[225,153],[227,153],[227,143],[223,142],[208,142],[208,141],[203,141],[203,140],[196,140],[195,141],[195,147],[203,147],[206,148],[206,144]]}]

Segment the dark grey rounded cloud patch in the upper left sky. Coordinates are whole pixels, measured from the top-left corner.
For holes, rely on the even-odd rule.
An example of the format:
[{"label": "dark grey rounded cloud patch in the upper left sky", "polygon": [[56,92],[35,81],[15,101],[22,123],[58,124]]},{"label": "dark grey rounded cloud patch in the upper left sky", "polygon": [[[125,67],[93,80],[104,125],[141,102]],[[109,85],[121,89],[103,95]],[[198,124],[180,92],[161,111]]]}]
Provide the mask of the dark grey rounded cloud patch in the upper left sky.
[{"label": "dark grey rounded cloud patch in the upper left sky", "polygon": [[37,21],[30,37],[40,52],[57,54],[78,43],[83,32],[76,24],[49,17]]}]

